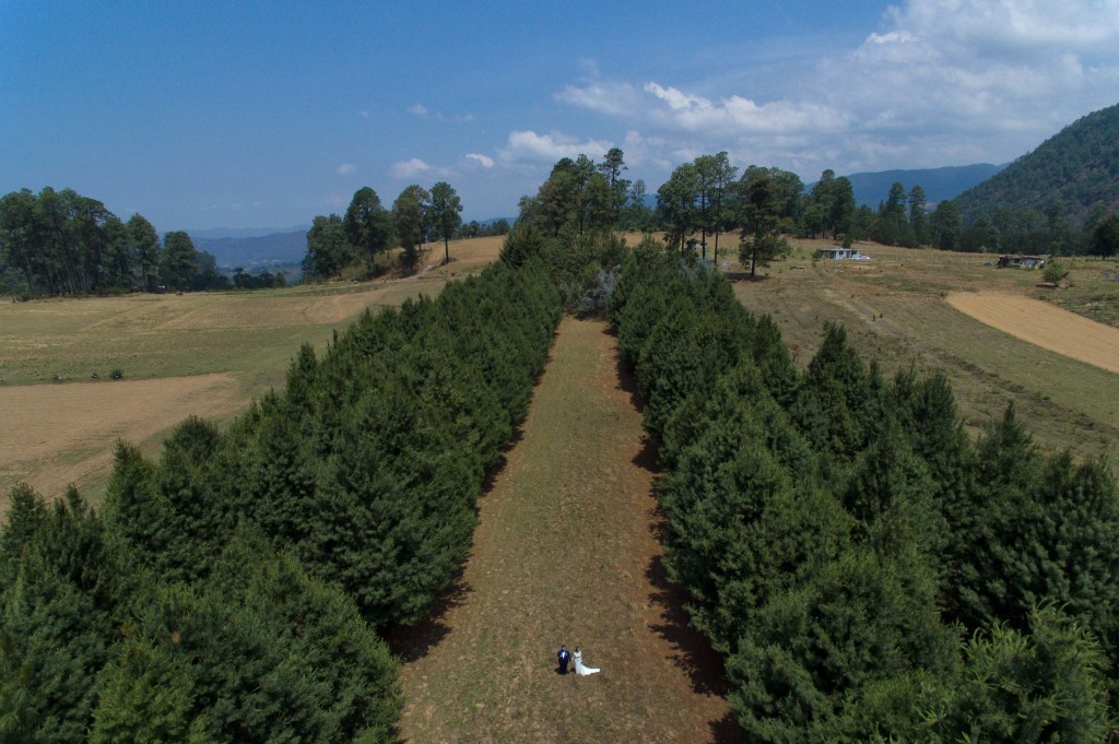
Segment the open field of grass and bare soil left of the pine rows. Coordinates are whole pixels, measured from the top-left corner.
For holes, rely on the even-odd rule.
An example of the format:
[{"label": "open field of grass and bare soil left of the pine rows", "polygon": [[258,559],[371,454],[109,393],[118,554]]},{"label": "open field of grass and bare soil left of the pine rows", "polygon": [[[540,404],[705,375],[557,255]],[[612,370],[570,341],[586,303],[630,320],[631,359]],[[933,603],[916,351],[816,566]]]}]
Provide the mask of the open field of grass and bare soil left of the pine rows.
[{"label": "open field of grass and bare soil left of the pine rows", "polygon": [[283,387],[300,345],[321,351],[365,308],[438,293],[500,245],[457,241],[446,264],[432,245],[427,265],[399,280],[0,303],[0,511],[19,481],[48,497],[74,482],[96,500],[116,439],[154,454],[190,414],[227,421]]}]

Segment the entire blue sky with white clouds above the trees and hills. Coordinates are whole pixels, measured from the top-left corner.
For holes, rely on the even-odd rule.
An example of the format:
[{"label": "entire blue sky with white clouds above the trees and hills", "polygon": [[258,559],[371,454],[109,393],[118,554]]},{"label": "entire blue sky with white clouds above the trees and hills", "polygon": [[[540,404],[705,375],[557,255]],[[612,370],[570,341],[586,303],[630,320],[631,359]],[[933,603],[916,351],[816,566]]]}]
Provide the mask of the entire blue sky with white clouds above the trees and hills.
[{"label": "entire blue sky with white clouds above the trees and hills", "polygon": [[1006,162],[1119,103],[1119,0],[548,4],[0,0],[0,194],[167,232],[445,180],[485,219],[610,147],[650,192],[722,150],[810,181]]}]

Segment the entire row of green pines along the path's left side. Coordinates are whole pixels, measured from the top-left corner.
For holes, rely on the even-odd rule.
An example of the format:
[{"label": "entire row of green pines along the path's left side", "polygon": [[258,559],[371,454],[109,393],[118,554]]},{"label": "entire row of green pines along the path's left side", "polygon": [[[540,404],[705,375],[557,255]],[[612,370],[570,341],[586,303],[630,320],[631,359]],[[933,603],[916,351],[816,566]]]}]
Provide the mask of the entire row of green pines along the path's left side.
[{"label": "entire row of green pines along the path's left side", "polygon": [[12,490],[0,740],[386,742],[384,631],[457,580],[561,314],[538,262],[367,311],[225,430],[120,443],[104,503]]}]

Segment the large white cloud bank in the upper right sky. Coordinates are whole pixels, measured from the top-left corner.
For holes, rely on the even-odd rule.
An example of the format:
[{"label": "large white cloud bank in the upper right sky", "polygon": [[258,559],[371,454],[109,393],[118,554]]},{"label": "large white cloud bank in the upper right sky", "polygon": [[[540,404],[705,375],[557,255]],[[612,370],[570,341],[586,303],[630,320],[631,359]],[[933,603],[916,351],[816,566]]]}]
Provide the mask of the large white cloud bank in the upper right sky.
[{"label": "large white cloud bank in the upper right sky", "polygon": [[[1006,162],[1119,98],[1119,0],[903,0],[862,44],[797,66],[796,77],[781,66],[741,73],[638,83],[591,66],[555,97],[622,122],[631,163],[727,150],[739,164],[815,177],[821,167]],[[510,135],[510,153],[571,151],[514,134],[523,141]]]}]

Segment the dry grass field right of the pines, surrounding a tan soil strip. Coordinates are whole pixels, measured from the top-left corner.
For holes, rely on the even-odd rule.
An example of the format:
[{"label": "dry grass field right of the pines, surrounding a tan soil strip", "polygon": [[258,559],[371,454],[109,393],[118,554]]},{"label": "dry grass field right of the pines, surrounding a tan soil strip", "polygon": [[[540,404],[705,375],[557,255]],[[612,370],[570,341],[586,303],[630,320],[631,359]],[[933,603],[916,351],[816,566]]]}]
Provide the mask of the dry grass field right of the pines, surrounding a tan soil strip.
[{"label": "dry grass field right of the pines, surrounding a tan soil strip", "polygon": [[[948,302],[953,293],[997,292],[1115,324],[1119,283],[1103,277],[1113,263],[1073,262],[1071,286],[1053,289],[1038,272],[996,269],[984,255],[859,244],[872,261],[814,261],[812,251],[824,245],[829,243],[798,242],[788,261],[734,284],[743,304],[773,316],[801,364],[815,354],[824,323],[838,321],[864,358],[877,359],[887,374],[911,365],[944,369],[972,432],[1014,402],[1043,446],[1082,456],[1113,452],[1119,376],[1000,331]],[[1072,345],[1082,341],[1072,324],[1065,336]]]}]

